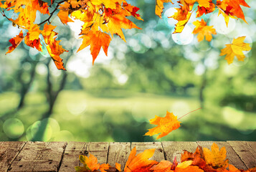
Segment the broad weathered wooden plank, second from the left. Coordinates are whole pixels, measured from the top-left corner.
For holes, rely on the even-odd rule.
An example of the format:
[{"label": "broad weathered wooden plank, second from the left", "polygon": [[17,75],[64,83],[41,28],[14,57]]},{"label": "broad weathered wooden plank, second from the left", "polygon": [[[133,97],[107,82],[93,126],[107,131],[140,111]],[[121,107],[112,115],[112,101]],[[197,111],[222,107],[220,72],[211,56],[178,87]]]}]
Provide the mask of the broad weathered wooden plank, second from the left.
[{"label": "broad weathered wooden plank, second from the left", "polygon": [[65,142],[27,142],[9,171],[58,171],[66,145]]}]

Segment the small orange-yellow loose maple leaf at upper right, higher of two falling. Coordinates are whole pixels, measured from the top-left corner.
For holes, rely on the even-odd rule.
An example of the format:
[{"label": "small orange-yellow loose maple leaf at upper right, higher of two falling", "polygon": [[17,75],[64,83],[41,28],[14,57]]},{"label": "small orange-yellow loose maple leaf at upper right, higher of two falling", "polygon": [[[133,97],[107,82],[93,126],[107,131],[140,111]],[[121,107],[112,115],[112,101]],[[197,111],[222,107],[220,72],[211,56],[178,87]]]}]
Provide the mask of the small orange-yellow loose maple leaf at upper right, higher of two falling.
[{"label": "small orange-yellow loose maple leaf at upper right, higher of two falling", "polygon": [[196,22],[193,22],[193,24],[196,26],[193,34],[198,34],[198,42],[202,42],[204,37],[208,42],[210,42],[212,40],[212,34],[217,34],[213,26],[207,26],[207,22],[204,22],[204,19],[202,19],[201,22],[197,20]]}]

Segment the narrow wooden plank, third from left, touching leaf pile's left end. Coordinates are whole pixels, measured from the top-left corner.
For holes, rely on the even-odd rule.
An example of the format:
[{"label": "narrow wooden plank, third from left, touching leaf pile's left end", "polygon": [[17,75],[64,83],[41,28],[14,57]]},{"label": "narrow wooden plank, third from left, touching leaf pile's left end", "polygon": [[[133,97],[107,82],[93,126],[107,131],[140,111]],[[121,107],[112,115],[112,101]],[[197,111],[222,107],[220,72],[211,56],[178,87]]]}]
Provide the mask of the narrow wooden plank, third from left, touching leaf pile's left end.
[{"label": "narrow wooden plank, third from left, touching leaf pile's left end", "polygon": [[79,156],[87,156],[87,143],[85,142],[69,142],[63,154],[60,172],[75,171],[75,166],[82,166]]}]

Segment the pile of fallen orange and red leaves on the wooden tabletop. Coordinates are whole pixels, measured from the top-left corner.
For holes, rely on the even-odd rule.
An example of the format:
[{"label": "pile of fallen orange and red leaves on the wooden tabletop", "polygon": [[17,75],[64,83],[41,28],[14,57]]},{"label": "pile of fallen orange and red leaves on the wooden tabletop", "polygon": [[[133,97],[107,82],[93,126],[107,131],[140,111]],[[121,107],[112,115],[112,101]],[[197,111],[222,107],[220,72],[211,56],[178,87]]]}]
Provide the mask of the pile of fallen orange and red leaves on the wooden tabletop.
[{"label": "pile of fallen orange and red leaves on the wooden tabletop", "polygon": [[[181,154],[180,163],[176,161],[176,158],[172,163],[149,160],[154,151],[155,149],[147,149],[136,155],[136,147],[134,147],[125,163],[124,172],[256,172],[256,167],[244,171],[229,164],[226,159],[226,148],[222,147],[219,150],[219,146],[215,143],[212,144],[212,150],[198,146],[194,153],[184,151]],[[76,166],[77,172],[121,171],[119,163],[115,163],[115,167],[105,163],[100,165],[92,154],[89,157],[81,155],[79,159],[83,166]]]}]

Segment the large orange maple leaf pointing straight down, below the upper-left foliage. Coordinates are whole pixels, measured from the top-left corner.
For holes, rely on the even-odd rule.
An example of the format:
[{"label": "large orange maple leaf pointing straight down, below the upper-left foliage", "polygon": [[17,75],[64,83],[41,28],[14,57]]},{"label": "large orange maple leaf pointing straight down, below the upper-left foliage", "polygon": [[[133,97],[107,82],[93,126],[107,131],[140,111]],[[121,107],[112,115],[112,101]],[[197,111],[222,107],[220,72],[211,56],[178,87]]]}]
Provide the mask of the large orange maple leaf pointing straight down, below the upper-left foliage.
[{"label": "large orange maple leaf pointing straight down, below the upper-left foliage", "polygon": [[111,41],[111,38],[108,34],[100,31],[91,31],[88,34],[82,35],[80,38],[82,38],[82,44],[77,52],[90,45],[90,52],[93,55],[93,64],[100,52],[101,47],[103,47],[105,54],[108,55],[108,46]]}]

